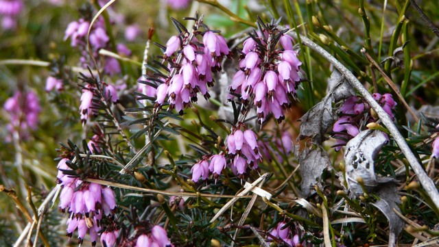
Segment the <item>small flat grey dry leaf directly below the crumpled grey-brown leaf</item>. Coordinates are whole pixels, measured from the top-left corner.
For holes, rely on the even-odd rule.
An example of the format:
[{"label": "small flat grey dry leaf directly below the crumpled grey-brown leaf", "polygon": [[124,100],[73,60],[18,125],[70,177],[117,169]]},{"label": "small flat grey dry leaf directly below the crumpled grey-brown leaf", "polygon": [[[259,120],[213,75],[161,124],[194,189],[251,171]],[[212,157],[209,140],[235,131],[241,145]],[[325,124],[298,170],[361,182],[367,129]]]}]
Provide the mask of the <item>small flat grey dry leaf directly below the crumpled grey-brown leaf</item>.
[{"label": "small flat grey dry leaf directly below the crumpled grey-brown leaf", "polygon": [[327,168],[331,161],[326,151],[322,146],[316,146],[315,148],[305,148],[304,151],[298,155],[300,164],[300,176],[302,181],[300,187],[302,188],[302,196],[307,197],[311,193],[311,187],[314,187],[320,179],[320,175],[324,168]]}]

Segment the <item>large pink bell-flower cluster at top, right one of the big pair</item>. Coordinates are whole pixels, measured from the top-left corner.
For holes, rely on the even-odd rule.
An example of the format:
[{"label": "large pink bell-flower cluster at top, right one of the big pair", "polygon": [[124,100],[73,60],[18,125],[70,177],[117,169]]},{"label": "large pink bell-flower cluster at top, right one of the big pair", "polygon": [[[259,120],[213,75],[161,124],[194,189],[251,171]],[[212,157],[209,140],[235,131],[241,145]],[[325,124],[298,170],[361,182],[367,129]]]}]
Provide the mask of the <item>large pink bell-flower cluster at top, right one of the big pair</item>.
[{"label": "large pink bell-flower cluster at top, right one of the big pair", "polygon": [[[267,26],[265,26],[267,27]],[[259,122],[268,114],[281,122],[296,94],[302,64],[293,49],[293,38],[276,25],[257,31],[244,41],[239,70],[233,77],[229,99],[256,105]]]}]

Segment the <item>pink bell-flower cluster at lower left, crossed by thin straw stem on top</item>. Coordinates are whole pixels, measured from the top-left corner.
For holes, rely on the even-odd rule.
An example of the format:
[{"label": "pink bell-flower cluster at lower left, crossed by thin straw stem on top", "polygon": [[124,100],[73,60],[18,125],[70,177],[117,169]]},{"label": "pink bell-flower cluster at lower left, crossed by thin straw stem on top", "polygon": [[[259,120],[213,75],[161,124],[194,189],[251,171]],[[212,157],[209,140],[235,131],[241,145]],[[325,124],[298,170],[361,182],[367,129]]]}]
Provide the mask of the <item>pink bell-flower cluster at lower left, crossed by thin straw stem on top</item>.
[{"label": "pink bell-flower cluster at lower left, crossed by thin straw stem on top", "polygon": [[84,182],[64,174],[63,171],[71,170],[67,161],[67,158],[59,161],[57,176],[62,185],[59,207],[70,215],[67,220],[67,235],[71,237],[78,229],[78,242],[82,243],[86,233],[89,233],[95,246],[101,230],[102,216],[112,215],[112,210],[116,207],[115,192],[110,187]]}]

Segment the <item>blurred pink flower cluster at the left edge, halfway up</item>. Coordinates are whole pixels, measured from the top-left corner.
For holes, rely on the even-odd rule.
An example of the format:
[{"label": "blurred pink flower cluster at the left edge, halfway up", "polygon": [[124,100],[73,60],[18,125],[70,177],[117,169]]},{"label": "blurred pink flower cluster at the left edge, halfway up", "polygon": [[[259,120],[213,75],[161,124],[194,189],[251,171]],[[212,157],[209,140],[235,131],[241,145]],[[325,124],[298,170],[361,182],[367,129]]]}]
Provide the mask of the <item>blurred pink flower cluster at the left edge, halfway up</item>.
[{"label": "blurred pink flower cluster at the left edge, halfway up", "polygon": [[20,138],[25,139],[29,135],[29,129],[36,129],[41,107],[34,92],[16,91],[5,101],[3,108],[10,116],[10,122],[6,126],[10,133],[17,132]]}]

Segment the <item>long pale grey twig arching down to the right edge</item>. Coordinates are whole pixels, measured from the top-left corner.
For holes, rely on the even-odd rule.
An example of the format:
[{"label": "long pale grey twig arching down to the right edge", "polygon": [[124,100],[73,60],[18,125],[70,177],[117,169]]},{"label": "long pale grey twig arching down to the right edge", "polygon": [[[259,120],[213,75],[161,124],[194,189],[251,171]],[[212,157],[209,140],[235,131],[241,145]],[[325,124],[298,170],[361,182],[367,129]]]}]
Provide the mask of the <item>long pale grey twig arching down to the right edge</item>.
[{"label": "long pale grey twig arching down to the right edge", "polygon": [[[297,38],[297,35],[292,33],[291,34],[294,38]],[[418,159],[414,156],[412,151],[410,150],[410,147],[407,145],[407,142],[405,142],[405,139],[399,133],[398,129],[394,125],[392,119],[390,116],[383,110],[381,105],[375,101],[375,99],[370,95],[368,90],[364,88],[364,86],[361,84],[361,82],[358,81],[357,77],[351,73],[348,68],[346,68],[342,63],[340,63],[335,57],[333,57],[331,54],[329,54],[326,50],[324,50],[320,45],[316,44],[315,42],[309,40],[309,38],[300,36],[302,38],[302,43],[305,44],[307,47],[313,49],[323,57],[325,57],[337,70],[344,75],[344,77],[351,83],[351,85],[358,90],[358,92],[364,96],[364,99],[368,101],[370,107],[374,109],[374,111],[377,113],[381,121],[383,122],[383,125],[387,127],[389,132],[392,134],[396,144],[398,144],[399,148],[401,148],[401,151],[405,155],[405,158],[409,162],[410,166],[414,170],[414,172],[418,175],[418,179],[423,185],[425,192],[430,196],[431,200],[433,201],[436,208],[439,209],[439,192],[436,189],[436,185],[434,182],[428,177],[428,175],[425,173],[425,170],[423,169],[423,166],[420,165]]]}]

